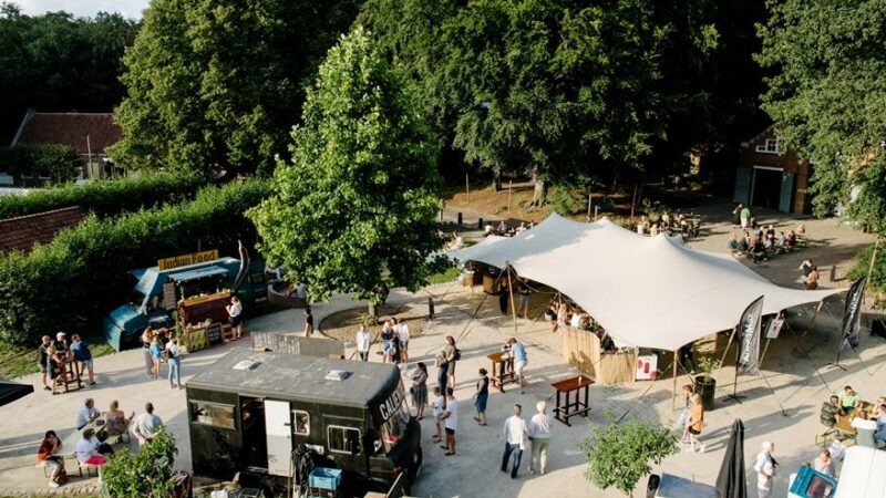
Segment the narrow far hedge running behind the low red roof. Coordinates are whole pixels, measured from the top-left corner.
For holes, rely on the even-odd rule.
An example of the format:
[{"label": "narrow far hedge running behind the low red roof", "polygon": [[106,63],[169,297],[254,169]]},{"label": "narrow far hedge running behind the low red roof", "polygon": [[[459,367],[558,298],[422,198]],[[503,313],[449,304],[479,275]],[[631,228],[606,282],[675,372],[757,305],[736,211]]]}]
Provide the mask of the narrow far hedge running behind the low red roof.
[{"label": "narrow far hedge running behind the low red roof", "polygon": [[0,197],[0,219],[80,206],[100,218],[194,198],[205,180],[194,174],[155,174],[138,178],[95,180]]}]

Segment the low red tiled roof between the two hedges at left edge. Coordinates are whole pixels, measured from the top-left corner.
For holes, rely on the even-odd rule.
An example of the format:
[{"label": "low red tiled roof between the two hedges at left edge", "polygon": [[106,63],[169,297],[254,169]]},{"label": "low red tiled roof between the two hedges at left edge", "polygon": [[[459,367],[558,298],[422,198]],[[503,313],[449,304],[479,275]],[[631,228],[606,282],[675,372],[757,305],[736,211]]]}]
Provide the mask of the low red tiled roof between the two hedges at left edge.
[{"label": "low red tiled roof between the two hedges at left edge", "polygon": [[73,227],[86,217],[79,206],[17,218],[0,219],[0,253],[30,251],[35,243],[49,243],[63,228]]}]

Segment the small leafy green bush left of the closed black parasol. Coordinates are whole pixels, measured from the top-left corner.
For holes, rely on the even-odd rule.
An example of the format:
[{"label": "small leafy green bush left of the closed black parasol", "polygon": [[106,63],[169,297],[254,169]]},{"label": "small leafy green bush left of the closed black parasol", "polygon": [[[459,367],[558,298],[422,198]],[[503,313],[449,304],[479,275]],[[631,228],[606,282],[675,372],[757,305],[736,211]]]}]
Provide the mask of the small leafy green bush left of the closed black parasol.
[{"label": "small leafy green bush left of the closed black parasol", "polygon": [[678,452],[677,434],[658,424],[636,421],[617,424],[607,414],[606,425],[588,423],[590,436],[580,443],[588,459],[585,478],[600,489],[615,487],[632,496],[637,483],[669,455]]}]

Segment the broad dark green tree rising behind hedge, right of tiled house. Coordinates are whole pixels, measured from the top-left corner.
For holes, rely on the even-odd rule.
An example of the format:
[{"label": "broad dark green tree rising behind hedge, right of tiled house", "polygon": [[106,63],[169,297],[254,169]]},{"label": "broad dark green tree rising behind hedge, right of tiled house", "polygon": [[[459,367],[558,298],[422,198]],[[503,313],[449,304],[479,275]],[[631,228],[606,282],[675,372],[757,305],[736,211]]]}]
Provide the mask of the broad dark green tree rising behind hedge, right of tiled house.
[{"label": "broad dark green tree rising behind hedge, right of tiled house", "polygon": [[124,59],[114,154],[141,167],[270,174],[303,83],[358,0],[155,0]]}]

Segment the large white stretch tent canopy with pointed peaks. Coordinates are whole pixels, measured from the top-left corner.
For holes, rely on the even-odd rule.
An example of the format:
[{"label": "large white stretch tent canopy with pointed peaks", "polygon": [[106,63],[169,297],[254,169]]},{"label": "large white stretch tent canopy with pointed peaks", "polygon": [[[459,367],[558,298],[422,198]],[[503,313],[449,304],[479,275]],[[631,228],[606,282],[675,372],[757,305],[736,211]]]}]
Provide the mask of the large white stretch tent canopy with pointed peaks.
[{"label": "large white stretch tent canopy with pointed peaks", "polygon": [[732,329],[753,300],[777,313],[841,292],[785,289],[730,255],[689,249],[663,234],[645,237],[602,218],[550,215],[515,237],[488,237],[449,252],[545,283],[594,317],[619,346],[673,351]]}]

